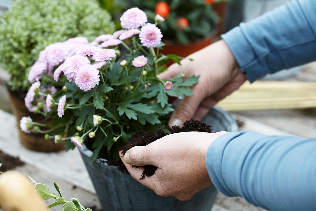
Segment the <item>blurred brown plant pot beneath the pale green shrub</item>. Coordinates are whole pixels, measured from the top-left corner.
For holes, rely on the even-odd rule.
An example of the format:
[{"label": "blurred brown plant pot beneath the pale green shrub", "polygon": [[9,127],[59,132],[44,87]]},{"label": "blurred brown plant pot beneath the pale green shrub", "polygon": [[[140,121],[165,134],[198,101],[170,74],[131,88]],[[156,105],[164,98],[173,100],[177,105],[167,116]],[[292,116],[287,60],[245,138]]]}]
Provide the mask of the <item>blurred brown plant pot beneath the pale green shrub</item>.
[{"label": "blurred brown plant pot beneath the pale green shrub", "polygon": [[50,140],[45,140],[43,134],[27,134],[21,131],[20,120],[22,117],[30,116],[32,120],[42,123],[44,118],[42,115],[33,114],[27,110],[24,105],[24,99],[19,93],[13,93],[9,90],[9,99],[12,104],[12,112],[16,118],[16,125],[19,131],[21,143],[29,150],[38,152],[58,152],[64,150],[64,142],[54,144]]}]

